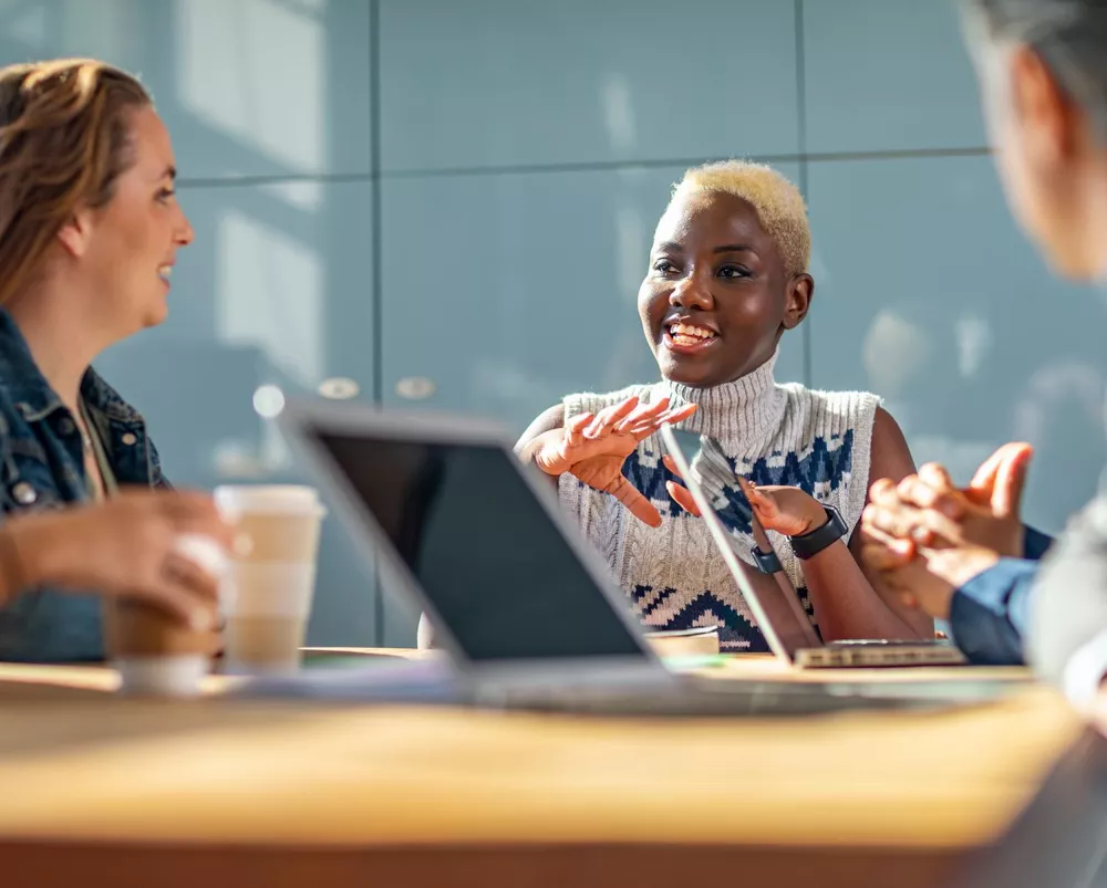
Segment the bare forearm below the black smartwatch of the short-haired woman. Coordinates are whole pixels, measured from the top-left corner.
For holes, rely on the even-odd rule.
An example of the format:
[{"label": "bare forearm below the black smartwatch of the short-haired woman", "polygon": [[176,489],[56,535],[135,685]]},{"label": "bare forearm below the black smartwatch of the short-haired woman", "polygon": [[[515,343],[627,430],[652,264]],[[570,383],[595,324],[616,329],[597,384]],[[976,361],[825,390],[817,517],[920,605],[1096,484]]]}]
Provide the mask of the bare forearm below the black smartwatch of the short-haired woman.
[{"label": "bare forearm below the black smartwatch of the short-haired woman", "polygon": [[824,641],[933,637],[932,628],[927,634],[910,625],[880,599],[841,540],[805,561],[803,570]]}]

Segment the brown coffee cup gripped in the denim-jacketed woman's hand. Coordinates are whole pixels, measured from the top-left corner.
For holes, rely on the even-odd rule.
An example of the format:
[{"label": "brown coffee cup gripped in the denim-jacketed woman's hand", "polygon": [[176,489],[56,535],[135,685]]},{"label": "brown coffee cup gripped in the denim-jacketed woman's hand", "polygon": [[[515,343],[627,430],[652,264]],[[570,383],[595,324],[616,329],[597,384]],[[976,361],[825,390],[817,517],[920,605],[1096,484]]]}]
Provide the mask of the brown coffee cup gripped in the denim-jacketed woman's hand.
[{"label": "brown coffee cup gripped in the denim-jacketed woman's hand", "polygon": [[[214,540],[183,534],[178,555],[217,581],[229,568],[226,552]],[[120,691],[158,697],[193,697],[200,691],[218,650],[218,603],[213,602],[208,627],[197,629],[157,605],[134,598],[105,598],[104,643],[120,675]]]}]

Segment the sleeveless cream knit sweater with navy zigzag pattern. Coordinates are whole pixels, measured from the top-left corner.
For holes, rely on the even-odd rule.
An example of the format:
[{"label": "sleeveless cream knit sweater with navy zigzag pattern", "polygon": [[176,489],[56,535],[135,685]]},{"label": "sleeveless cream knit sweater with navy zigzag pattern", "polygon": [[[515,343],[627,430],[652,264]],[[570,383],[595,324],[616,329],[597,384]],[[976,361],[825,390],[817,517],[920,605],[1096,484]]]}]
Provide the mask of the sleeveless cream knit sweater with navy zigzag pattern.
[{"label": "sleeveless cream knit sweater with navy zigzag pattern", "polygon": [[[834,505],[852,531],[865,506],[878,398],[777,385],[775,363],[774,357],[741,379],[707,389],[662,382],[608,395],[570,395],[563,401],[565,419],[600,410],[629,395],[645,403],[668,394],[674,406],[699,404],[682,428],[716,438],[735,471],[755,484],[798,487]],[[661,462],[663,452],[661,437],[654,435],[623,466],[623,474],[661,512],[660,527],[648,526],[613,497],[570,474],[560,479],[562,505],[607,558],[649,628],[718,626],[724,650],[767,650],[706,525],[670,499],[665,481],[673,476]],[[769,537],[814,623],[801,563],[785,537],[774,532]],[[752,547],[753,540],[746,545]],[[752,561],[748,549],[739,555]]]}]

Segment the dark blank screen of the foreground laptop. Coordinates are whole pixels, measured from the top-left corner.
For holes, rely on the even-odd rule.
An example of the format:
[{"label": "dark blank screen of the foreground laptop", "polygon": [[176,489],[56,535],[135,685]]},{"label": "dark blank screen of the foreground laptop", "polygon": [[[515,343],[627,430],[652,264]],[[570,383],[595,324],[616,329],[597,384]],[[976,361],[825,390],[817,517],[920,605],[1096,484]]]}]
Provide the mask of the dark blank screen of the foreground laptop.
[{"label": "dark blank screen of the foreground laptop", "polygon": [[514,455],[311,431],[469,659],[644,656]]}]

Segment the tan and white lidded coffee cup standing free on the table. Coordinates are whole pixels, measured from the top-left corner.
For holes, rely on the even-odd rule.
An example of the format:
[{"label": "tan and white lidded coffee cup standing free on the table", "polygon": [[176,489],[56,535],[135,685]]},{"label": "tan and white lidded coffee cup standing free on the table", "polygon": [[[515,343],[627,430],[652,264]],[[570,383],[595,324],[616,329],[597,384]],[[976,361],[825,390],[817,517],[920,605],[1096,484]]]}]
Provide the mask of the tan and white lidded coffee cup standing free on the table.
[{"label": "tan and white lidded coffee cup standing free on the table", "polygon": [[319,533],[325,510],[314,488],[220,487],[224,518],[250,540],[234,556],[224,604],[224,671],[294,672],[311,617]]}]

